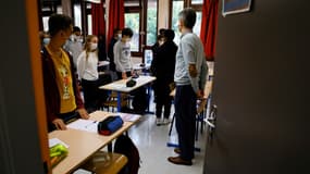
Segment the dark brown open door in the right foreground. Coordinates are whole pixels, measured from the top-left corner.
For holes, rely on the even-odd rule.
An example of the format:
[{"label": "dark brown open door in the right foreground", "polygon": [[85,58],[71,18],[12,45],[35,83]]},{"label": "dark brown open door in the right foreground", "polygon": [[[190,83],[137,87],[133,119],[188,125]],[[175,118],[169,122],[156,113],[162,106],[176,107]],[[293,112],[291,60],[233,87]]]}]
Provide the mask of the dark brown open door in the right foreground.
[{"label": "dark brown open door in the right foreground", "polygon": [[249,13],[219,13],[204,174],[309,173],[309,5],[260,0]]}]

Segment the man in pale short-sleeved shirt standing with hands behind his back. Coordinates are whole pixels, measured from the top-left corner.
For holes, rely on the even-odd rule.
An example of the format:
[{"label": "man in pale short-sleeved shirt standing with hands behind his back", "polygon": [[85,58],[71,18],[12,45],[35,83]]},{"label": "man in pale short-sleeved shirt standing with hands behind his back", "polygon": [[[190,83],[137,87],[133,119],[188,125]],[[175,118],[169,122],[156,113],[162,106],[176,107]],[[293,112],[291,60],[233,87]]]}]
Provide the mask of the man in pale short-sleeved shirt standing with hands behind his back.
[{"label": "man in pale short-sleeved shirt standing with hands behind his back", "polygon": [[193,33],[196,23],[196,12],[184,9],[178,14],[178,29],[182,33],[176,52],[174,82],[176,85],[174,107],[175,125],[179,148],[175,149],[178,157],[168,160],[174,164],[191,165],[195,145],[195,121],[197,98],[203,97],[203,88],[208,66],[203,46]]}]

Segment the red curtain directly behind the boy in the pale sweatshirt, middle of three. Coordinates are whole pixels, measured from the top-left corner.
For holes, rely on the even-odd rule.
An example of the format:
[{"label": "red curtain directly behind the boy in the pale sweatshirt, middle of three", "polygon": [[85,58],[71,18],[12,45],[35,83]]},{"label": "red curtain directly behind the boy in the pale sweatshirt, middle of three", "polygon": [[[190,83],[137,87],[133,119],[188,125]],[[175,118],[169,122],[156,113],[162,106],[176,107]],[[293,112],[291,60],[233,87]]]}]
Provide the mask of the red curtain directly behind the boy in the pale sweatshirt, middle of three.
[{"label": "red curtain directly behind the boy in the pale sweatshirt, middle of three", "polygon": [[109,8],[108,40],[113,37],[114,28],[124,28],[124,0],[111,0]]}]

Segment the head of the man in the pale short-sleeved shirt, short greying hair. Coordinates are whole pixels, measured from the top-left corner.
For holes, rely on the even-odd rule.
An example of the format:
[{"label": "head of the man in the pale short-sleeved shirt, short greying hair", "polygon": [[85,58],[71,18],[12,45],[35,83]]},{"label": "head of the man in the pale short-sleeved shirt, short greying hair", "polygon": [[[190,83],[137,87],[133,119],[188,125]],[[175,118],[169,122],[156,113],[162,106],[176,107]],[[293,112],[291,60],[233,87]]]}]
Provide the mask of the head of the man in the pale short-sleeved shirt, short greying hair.
[{"label": "head of the man in the pale short-sleeved shirt, short greying hair", "polygon": [[185,27],[193,29],[196,23],[196,12],[191,8],[186,8],[178,13],[178,18],[183,21]]}]

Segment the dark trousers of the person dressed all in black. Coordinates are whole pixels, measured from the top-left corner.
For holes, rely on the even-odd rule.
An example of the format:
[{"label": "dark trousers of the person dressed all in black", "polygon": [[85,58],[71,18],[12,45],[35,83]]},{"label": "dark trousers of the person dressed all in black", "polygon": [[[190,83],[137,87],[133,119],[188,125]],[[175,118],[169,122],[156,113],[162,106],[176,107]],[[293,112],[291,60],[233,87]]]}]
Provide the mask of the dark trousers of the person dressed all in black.
[{"label": "dark trousers of the person dressed all in black", "polygon": [[156,115],[161,117],[162,108],[164,109],[163,117],[169,119],[171,111],[172,97],[170,96],[170,87],[166,80],[160,80],[159,78],[153,84],[154,97],[156,97]]}]

